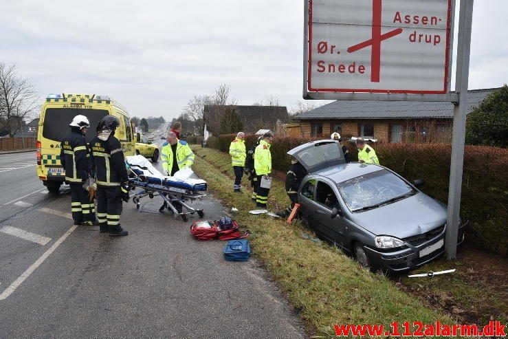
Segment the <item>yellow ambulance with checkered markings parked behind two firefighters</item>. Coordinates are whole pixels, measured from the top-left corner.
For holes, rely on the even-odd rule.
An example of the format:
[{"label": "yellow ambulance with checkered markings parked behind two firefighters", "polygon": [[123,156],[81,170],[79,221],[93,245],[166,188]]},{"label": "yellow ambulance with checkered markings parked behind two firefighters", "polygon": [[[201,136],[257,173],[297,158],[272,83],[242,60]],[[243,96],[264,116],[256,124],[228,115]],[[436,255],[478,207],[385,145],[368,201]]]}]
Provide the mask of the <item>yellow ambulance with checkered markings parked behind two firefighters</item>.
[{"label": "yellow ambulance with checkered markings parked behind two firefighters", "polygon": [[104,116],[111,114],[120,120],[115,137],[122,143],[124,155],[135,155],[136,135],[131,116],[122,105],[109,96],[95,94],[49,94],[39,120],[37,133],[37,175],[51,193],[58,193],[65,182],[60,164],[60,141],[69,133],[69,123],[81,114],[90,122],[86,140],[96,135],[96,128]]}]

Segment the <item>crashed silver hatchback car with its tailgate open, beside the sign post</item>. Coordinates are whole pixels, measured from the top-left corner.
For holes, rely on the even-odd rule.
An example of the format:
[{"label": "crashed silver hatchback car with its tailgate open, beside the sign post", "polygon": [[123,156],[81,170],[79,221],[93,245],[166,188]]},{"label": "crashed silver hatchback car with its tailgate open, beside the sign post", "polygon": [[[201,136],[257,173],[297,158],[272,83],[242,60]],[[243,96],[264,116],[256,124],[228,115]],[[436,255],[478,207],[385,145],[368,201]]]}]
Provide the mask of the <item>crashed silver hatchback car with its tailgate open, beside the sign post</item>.
[{"label": "crashed silver hatchback car with its tailgate open, beside the sign post", "polygon": [[362,265],[403,272],[443,254],[447,207],[416,187],[421,180],[411,184],[383,166],[346,164],[333,140],[287,154],[307,170],[298,190],[302,221]]}]

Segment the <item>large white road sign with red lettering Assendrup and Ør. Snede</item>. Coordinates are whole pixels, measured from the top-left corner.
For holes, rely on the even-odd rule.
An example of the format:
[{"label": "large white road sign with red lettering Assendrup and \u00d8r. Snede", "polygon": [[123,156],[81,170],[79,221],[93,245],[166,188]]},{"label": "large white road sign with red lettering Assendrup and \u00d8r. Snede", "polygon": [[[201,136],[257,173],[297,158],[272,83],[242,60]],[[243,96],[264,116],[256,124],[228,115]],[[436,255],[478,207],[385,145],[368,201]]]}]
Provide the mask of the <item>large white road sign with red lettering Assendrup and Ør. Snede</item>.
[{"label": "large white road sign with red lettering Assendrup and \u00d8r. Snede", "polygon": [[307,90],[447,94],[452,0],[309,0]]}]

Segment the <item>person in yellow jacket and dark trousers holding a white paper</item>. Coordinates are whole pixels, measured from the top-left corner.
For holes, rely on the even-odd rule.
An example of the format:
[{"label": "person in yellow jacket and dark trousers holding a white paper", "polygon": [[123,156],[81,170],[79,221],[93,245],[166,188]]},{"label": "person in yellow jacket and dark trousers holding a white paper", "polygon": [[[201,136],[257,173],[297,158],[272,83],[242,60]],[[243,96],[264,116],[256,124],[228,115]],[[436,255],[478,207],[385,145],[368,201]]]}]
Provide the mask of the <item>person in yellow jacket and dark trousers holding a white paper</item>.
[{"label": "person in yellow jacket and dark trousers holding a white paper", "polygon": [[261,179],[272,173],[272,153],[270,153],[270,146],[274,140],[272,133],[263,134],[263,140],[259,142],[254,152],[254,169],[258,179],[258,191],[256,197],[256,206],[266,208],[268,202],[269,188],[261,187]]}]

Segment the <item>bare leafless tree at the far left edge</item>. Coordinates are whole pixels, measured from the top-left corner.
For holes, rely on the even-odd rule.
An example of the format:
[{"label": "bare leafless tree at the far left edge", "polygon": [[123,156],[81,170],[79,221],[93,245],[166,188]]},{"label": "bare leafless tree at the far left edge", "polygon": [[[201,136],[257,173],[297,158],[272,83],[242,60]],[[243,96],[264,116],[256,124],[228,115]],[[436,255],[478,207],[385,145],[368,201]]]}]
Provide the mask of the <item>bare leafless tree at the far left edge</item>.
[{"label": "bare leafless tree at the far left edge", "polygon": [[36,109],[38,96],[34,86],[16,72],[15,65],[0,63],[0,122],[13,137]]}]

